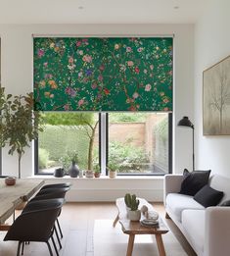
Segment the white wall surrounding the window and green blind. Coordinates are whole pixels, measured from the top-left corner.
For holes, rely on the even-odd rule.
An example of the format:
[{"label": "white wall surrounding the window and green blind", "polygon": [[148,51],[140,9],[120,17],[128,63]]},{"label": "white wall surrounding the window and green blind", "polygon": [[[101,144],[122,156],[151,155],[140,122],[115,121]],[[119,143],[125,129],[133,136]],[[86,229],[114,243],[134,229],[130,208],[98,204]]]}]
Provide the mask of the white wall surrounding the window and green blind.
[{"label": "white wall surrounding the window and green blind", "polygon": [[[174,111],[173,122],[182,116],[194,119],[194,26],[193,25],[0,25],[2,39],[2,85],[7,92],[32,90],[32,34],[74,36],[155,36],[174,34]],[[189,97],[188,97],[189,95]],[[173,125],[173,171],[192,169],[192,130]],[[16,156],[3,150],[3,174],[17,175]],[[33,174],[32,149],[22,159],[22,176]],[[143,189],[152,189],[141,181]],[[118,184],[117,184],[118,185]],[[147,186],[146,186],[147,185]],[[162,185],[161,185],[162,198]]]}]

